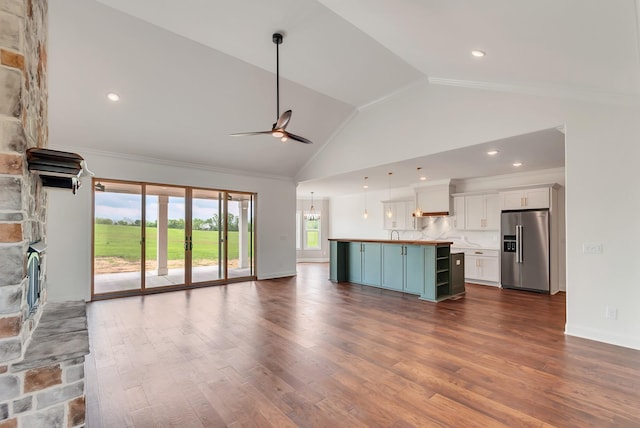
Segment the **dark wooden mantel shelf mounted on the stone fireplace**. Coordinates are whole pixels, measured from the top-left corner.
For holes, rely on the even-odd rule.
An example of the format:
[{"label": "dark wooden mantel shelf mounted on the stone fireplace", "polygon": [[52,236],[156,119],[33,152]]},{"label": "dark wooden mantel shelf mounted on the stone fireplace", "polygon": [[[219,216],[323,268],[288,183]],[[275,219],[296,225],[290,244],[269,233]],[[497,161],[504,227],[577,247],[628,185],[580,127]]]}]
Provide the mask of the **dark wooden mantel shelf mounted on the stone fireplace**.
[{"label": "dark wooden mantel shelf mounted on the stone fireplace", "polygon": [[83,175],[93,175],[82,156],[59,150],[30,148],[27,163],[29,171],[40,176],[43,186],[71,189],[73,194],[80,188]]}]

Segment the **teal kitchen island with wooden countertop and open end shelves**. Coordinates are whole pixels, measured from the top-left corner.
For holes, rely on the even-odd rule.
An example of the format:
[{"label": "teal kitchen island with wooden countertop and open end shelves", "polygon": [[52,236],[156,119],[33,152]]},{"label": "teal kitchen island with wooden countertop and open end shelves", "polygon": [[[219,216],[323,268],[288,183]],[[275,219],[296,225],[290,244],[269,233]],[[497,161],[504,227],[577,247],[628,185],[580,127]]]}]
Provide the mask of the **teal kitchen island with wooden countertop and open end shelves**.
[{"label": "teal kitchen island with wooden countertop and open end shelves", "polygon": [[[438,302],[464,293],[452,281],[448,241],[329,239],[333,282],[353,282]],[[455,282],[455,283],[454,283]]]}]

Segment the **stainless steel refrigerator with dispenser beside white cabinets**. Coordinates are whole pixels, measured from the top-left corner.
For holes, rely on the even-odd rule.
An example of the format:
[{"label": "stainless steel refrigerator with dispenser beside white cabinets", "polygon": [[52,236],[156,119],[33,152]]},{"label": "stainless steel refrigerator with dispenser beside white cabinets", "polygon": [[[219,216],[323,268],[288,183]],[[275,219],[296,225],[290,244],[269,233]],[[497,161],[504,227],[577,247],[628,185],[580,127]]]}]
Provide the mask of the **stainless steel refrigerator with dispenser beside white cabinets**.
[{"label": "stainless steel refrigerator with dispenser beside white cabinets", "polygon": [[549,211],[503,211],[503,288],[549,293]]}]

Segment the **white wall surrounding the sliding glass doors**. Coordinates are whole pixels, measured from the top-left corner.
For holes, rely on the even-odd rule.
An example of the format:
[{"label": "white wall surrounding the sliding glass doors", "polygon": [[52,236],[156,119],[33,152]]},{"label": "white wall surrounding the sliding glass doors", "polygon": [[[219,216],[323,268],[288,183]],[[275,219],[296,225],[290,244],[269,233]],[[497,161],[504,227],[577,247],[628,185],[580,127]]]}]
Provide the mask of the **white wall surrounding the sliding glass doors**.
[{"label": "white wall surrounding the sliding glass doors", "polygon": [[[293,182],[104,154],[79,154],[100,178],[256,192],[258,278],[295,275],[296,193]],[[76,195],[66,189],[47,189],[47,193],[48,299],[90,300],[91,180],[83,180]]]}]

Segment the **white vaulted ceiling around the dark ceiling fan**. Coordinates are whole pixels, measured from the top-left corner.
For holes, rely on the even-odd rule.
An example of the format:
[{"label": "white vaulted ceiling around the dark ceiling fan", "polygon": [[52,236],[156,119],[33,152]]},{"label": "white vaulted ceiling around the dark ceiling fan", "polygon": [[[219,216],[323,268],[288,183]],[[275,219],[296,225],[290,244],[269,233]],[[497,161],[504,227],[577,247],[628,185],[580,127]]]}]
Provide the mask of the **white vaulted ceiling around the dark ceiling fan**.
[{"label": "white vaulted ceiling around the dark ceiling fan", "polygon": [[[49,13],[50,145],[79,153],[294,178],[359,109],[420,82],[640,95],[634,0],[65,0]],[[276,119],[274,32],[280,110],[313,145],[229,136]],[[439,160],[476,156],[452,155]]]}]

